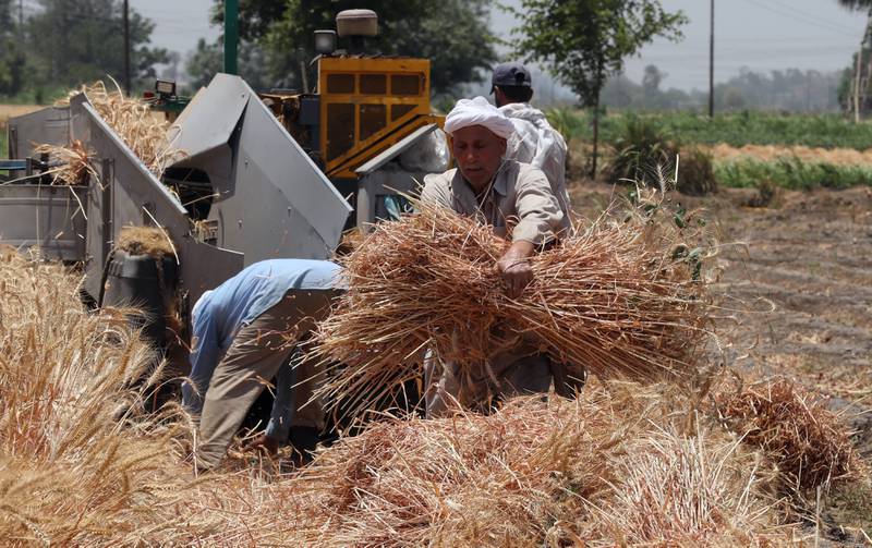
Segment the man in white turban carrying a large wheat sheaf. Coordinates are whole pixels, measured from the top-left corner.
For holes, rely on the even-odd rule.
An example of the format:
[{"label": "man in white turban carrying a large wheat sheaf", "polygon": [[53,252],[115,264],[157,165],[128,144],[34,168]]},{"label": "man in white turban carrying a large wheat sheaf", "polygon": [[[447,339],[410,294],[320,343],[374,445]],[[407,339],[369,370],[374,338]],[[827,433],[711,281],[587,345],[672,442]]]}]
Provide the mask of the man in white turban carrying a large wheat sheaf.
[{"label": "man in white turban carrying a large wheat sheaf", "polygon": [[[528,259],[569,228],[569,219],[538,168],[505,159],[512,122],[484,97],[461,99],[445,119],[458,168],[427,175],[421,199],[491,224],[509,249],[496,261],[509,296],[520,296],[533,279]],[[495,339],[502,333],[495,332]],[[552,363],[525,340],[496,351],[477,370],[461,370],[429,355],[425,363],[427,415],[459,403],[487,405],[492,397],[545,392]],[[558,378],[555,376],[555,378]],[[566,387],[557,387],[558,391]]]}]

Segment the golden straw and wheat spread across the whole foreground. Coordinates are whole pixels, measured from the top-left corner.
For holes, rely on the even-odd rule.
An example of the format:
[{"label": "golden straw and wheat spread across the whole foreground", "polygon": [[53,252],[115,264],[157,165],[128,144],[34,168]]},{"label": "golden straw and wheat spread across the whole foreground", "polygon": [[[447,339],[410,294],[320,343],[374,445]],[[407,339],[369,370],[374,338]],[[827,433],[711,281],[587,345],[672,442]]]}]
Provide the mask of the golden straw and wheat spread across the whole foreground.
[{"label": "golden straw and wheat spread across the whole foreground", "polygon": [[[141,413],[153,364],[81,278],[0,249],[0,538],[13,545],[785,546],[766,463],[674,389],[390,419],[296,475],[195,477],[190,425]],[[158,376],[159,372],[153,375]]]}]

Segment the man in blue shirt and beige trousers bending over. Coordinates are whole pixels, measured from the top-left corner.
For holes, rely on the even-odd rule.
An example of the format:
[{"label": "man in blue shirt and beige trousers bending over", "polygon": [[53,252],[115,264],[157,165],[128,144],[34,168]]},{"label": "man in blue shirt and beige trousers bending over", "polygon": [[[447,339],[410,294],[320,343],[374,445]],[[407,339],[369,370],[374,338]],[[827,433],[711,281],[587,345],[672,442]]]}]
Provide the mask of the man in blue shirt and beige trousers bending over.
[{"label": "man in blue shirt and beige trousers bending over", "polygon": [[326,260],[264,260],[207,291],[194,305],[191,376],[182,386],[182,403],[199,415],[197,468],[221,462],[249,409],[274,377],[269,423],[250,447],[275,453],[290,437],[301,458],[315,449],[324,410],[310,399],[319,372],[300,360],[296,350],[327,316],[338,294],[338,271]]}]

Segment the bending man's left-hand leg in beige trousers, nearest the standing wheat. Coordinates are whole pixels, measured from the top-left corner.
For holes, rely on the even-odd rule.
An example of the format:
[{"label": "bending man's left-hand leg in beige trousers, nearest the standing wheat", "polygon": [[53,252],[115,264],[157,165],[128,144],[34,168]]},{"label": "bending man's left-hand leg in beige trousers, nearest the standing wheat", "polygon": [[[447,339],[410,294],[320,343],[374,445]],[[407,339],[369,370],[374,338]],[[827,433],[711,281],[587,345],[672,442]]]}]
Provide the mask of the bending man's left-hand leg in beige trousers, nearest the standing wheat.
[{"label": "bending man's left-hand leg in beige trousers, nearest the standing wheat", "polygon": [[296,342],[288,329],[286,300],[240,329],[213,374],[199,423],[197,466],[216,466],[264,386],[288,360]]}]

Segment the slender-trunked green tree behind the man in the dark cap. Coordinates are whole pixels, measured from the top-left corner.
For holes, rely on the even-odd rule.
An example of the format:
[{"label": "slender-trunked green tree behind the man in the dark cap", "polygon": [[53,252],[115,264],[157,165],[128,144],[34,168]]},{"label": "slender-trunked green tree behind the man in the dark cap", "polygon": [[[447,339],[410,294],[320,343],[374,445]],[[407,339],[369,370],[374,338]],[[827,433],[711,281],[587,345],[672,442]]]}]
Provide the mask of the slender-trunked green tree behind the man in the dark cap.
[{"label": "slender-trunked green tree behind the man in the dark cap", "polygon": [[513,10],[522,24],[516,53],[544,62],[571,88],[582,106],[593,109],[593,161],[596,174],[600,139],[600,94],[623,60],[657,36],[681,38],[682,12],[667,12],[658,0],[521,0]]}]

